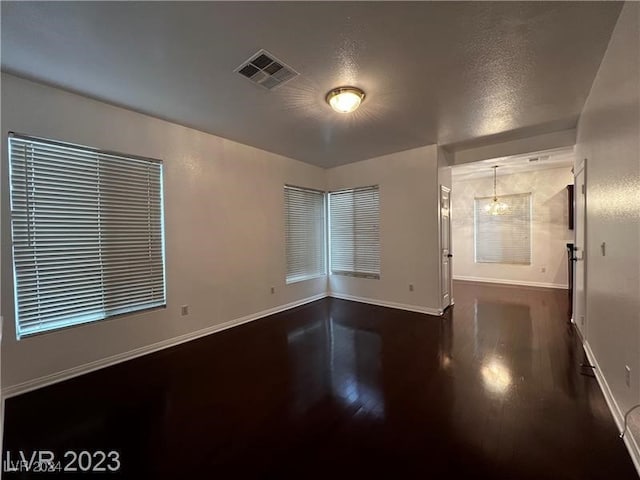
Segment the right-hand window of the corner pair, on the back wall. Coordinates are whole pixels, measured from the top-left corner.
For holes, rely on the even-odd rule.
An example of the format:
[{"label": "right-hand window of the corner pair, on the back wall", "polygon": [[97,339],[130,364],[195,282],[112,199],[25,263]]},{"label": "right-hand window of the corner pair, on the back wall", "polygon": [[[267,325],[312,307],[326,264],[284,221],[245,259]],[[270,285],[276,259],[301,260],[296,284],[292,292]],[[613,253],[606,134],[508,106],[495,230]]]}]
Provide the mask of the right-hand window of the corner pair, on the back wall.
[{"label": "right-hand window of the corner pair, on the back wall", "polygon": [[378,186],[329,194],[331,273],[380,278]]}]

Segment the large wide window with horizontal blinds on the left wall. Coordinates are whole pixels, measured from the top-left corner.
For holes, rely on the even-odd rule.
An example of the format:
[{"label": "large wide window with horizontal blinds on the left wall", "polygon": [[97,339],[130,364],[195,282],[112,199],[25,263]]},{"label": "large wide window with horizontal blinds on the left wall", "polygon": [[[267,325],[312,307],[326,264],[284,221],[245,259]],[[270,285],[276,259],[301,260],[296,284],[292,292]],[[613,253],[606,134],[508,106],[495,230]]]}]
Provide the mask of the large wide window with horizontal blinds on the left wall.
[{"label": "large wide window with horizontal blinds on the left wall", "polygon": [[10,134],[18,338],[165,305],[162,164]]}]

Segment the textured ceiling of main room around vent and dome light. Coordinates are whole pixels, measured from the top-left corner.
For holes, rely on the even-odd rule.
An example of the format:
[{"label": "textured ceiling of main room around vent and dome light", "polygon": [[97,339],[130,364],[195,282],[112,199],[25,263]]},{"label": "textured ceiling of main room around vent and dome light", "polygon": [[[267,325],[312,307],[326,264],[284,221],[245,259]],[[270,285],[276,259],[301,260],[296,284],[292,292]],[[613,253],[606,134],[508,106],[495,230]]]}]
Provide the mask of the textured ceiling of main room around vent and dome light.
[{"label": "textured ceiling of main room around vent and dome light", "polygon": [[[2,68],[328,167],[575,127],[617,2],[2,2]],[[234,69],[264,48],[300,72]],[[324,97],[353,84],[360,110]]]}]

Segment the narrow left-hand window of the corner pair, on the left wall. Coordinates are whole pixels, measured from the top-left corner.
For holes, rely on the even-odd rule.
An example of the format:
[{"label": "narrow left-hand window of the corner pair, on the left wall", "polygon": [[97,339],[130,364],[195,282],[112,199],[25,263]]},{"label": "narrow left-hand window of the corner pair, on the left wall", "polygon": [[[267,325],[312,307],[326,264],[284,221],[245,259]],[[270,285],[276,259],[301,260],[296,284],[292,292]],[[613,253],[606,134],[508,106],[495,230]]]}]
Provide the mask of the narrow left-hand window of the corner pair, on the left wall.
[{"label": "narrow left-hand window of the corner pair, on the left wall", "polygon": [[324,192],[284,187],[287,283],[326,274]]}]

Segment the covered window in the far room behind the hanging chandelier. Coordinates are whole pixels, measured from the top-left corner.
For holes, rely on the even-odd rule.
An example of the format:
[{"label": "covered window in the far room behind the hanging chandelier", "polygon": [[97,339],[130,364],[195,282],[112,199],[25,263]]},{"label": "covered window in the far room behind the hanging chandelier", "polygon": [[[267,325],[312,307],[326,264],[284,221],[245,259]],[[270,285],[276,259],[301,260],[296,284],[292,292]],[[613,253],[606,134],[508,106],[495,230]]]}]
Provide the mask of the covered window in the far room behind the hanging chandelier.
[{"label": "covered window in the far room behind the hanging chandelier", "polygon": [[486,211],[493,197],[475,200],[476,263],[531,264],[531,194],[503,195],[505,212]]}]

